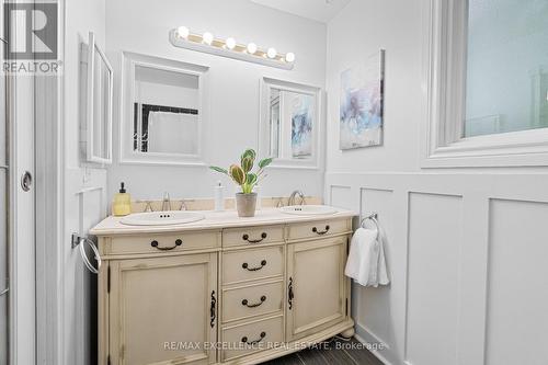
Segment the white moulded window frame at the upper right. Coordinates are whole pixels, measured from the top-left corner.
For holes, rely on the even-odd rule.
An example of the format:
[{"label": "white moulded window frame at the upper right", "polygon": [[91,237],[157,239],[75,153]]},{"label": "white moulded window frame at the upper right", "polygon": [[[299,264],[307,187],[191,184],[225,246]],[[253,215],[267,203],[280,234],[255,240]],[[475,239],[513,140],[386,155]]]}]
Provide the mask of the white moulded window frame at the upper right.
[{"label": "white moulded window frame at the upper right", "polygon": [[468,1],[426,4],[421,167],[548,166],[548,128],[463,137]]}]

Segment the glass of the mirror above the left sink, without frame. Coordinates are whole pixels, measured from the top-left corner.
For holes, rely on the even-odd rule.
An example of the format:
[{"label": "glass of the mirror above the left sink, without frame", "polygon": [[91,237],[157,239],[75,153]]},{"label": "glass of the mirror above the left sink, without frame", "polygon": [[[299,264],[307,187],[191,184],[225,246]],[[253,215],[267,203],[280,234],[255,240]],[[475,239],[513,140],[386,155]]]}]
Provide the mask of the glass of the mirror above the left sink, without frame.
[{"label": "glass of the mirror above the left sink, without frame", "polygon": [[196,155],[199,77],[135,66],[134,151]]}]

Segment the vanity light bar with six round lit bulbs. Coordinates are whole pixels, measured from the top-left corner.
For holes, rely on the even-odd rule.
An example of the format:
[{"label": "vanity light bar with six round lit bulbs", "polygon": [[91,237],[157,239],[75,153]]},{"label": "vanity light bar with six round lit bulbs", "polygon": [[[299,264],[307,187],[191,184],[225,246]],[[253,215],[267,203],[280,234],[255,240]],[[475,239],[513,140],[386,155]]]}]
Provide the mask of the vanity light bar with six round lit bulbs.
[{"label": "vanity light bar with six round lit bulbs", "polygon": [[169,37],[171,44],[180,48],[286,70],[293,69],[295,65],[295,54],[292,52],[281,54],[274,47],[262,48],[253,42],[240,44],[232,37],[216,38],[210,32],[193,33],[184,25],[171,30]]}]

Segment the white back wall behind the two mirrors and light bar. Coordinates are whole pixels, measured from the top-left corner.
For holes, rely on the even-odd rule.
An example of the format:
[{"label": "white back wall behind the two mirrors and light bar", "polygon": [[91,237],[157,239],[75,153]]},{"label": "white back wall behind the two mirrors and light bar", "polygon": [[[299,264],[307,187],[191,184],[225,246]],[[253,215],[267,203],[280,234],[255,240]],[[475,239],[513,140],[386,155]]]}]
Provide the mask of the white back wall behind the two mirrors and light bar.
[{"label": "white back wall behind the two mirrors and light bar", "polygon": [[[255,147],[259,134],[259,90],[262,77],[272,77],[324,88],[326,25],[247,0],[110,0],[106,3],[107,56],[115,75],[121,72],[121,53],[128,50],[209,67],[209,125],[204,146],[207,164],[229,166],[248,147]],[[240,43],[255,42],[294,52],[293,70],[279,70],[255,64],[175,48],[168,32],[186,25],[196,32],[233,36]],[[115,82],[119,98],[119,78]],[[121,103],[115,101],[115,105]],[[118,145],[119,110],[114,115],[114,141]],[[115,150],[115,159],[119,151]],[[271,169],[261,187],[264,195],[288,195],[295,189],[321,195],[322,171]],[[290,179],[289,179],[290,178]],[[121,181],[134,198],[212,197],[218,180],[226,178],[207,167],[129,166],[114,163],[109,170],[110,196]],[[229,194],[232,189],[229,189]]]}]

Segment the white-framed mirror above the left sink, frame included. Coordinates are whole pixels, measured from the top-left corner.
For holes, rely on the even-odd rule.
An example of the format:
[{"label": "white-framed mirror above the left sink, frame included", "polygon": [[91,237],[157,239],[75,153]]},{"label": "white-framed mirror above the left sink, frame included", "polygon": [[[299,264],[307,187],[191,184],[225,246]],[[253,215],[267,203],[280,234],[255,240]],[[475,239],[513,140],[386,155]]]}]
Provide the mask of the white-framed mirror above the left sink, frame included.
[{"label": "white-framed mirror above the left sink, frame included", "polygon": [[124,53],[122,161],[202,164],[207,67]]}]

